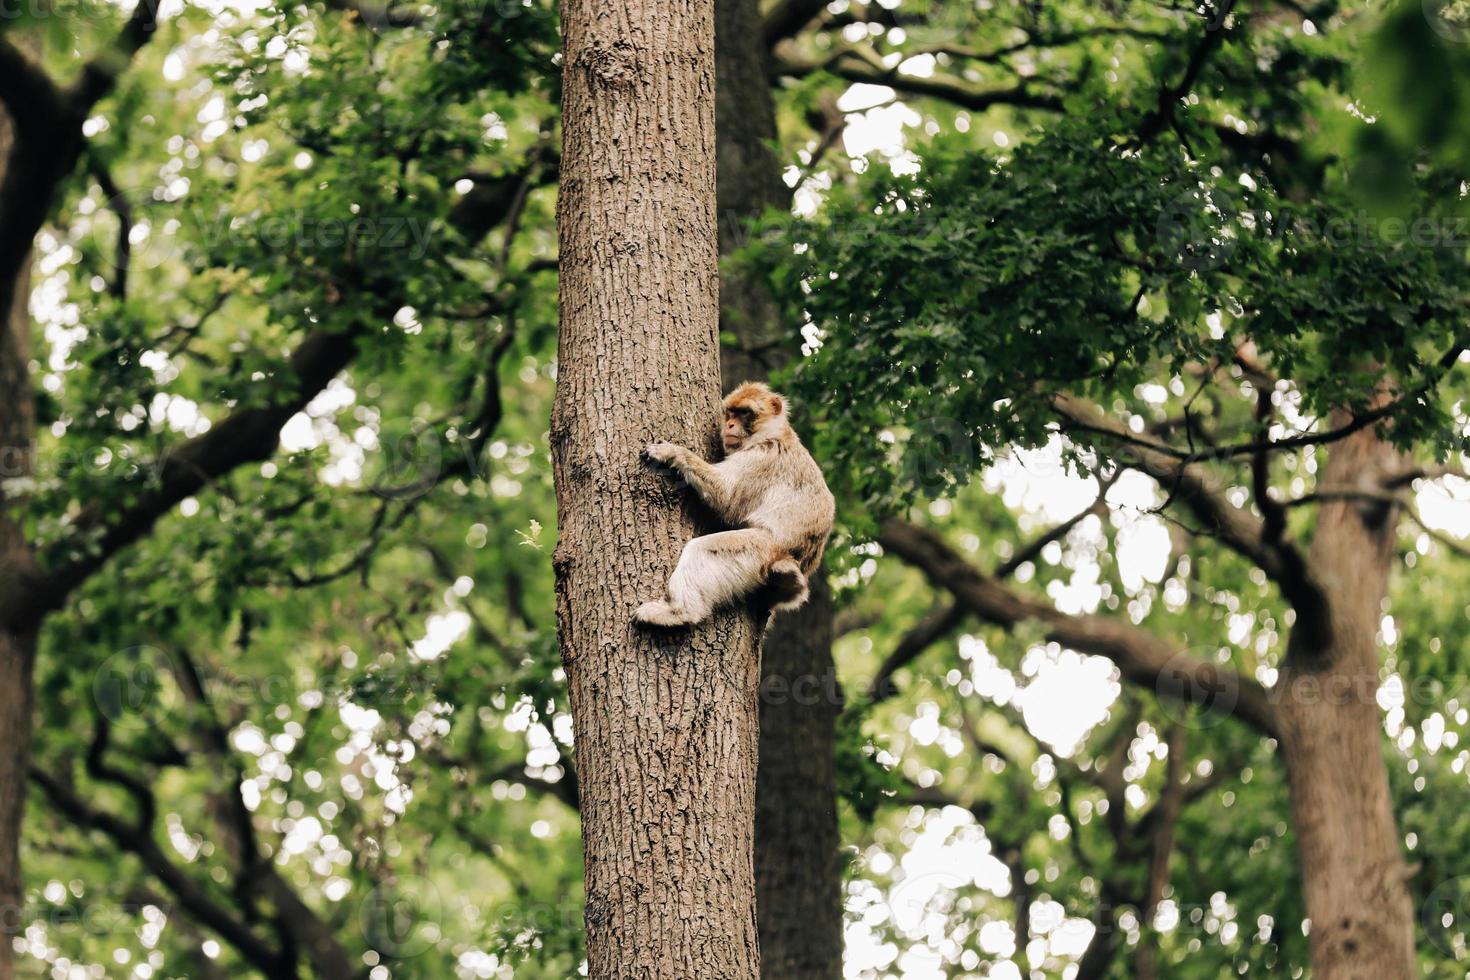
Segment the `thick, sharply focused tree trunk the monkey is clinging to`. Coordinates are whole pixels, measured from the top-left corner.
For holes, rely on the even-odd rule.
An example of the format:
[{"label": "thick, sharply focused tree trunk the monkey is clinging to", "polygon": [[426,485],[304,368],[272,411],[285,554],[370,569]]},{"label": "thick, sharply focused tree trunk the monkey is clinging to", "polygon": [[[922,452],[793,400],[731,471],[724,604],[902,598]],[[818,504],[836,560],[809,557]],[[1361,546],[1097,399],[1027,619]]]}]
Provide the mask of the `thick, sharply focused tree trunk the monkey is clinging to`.
[{"label": "thick, sharply focused tree trunk the monkey is clinging to", "polygon": [[756,980],[759,629],[637,629],[684,542],[653,439],[719,426],[714,0],[564,0],[557,620],[589,976]]}]

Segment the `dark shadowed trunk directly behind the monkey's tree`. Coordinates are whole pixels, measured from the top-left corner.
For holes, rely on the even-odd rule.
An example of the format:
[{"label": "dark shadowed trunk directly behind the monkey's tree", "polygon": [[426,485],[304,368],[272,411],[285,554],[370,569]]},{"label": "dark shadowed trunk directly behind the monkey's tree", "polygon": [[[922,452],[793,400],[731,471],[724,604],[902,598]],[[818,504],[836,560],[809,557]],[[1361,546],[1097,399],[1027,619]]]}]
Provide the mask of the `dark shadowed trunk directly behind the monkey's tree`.
[{"label": "dark shadowed trunk directly behind the monkey's tree", "polygon": [[[720,253],[744,242],[744,222],[786,207],[776,107],[756,0],[716,0],[716,137]],[[760,284],[726,270],[720,329],[725,388],[784,366],[798,335]],[[781,616],[761,652],[760,770],[756,779],[756,911],[764,980],[842,976],[842,864],[836,820],[836,717],[832,597]]]}]

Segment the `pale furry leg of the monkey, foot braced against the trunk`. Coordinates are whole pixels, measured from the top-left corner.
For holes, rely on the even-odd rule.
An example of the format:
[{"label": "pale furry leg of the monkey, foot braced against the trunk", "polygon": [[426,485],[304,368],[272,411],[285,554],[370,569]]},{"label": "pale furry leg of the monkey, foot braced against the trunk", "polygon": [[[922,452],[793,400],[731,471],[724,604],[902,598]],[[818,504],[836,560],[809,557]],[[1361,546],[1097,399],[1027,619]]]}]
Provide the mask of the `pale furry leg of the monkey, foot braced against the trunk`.
[{"label": "pale furry leg of the monkey, foot braced against the trunk", "polygon": [[669,598],[644,602],[634,619],[650,626],[689,626],[716,607],[756,591],[766,577],[775,539],[759,527],[722,530],[684,545],[669,576]]}]

